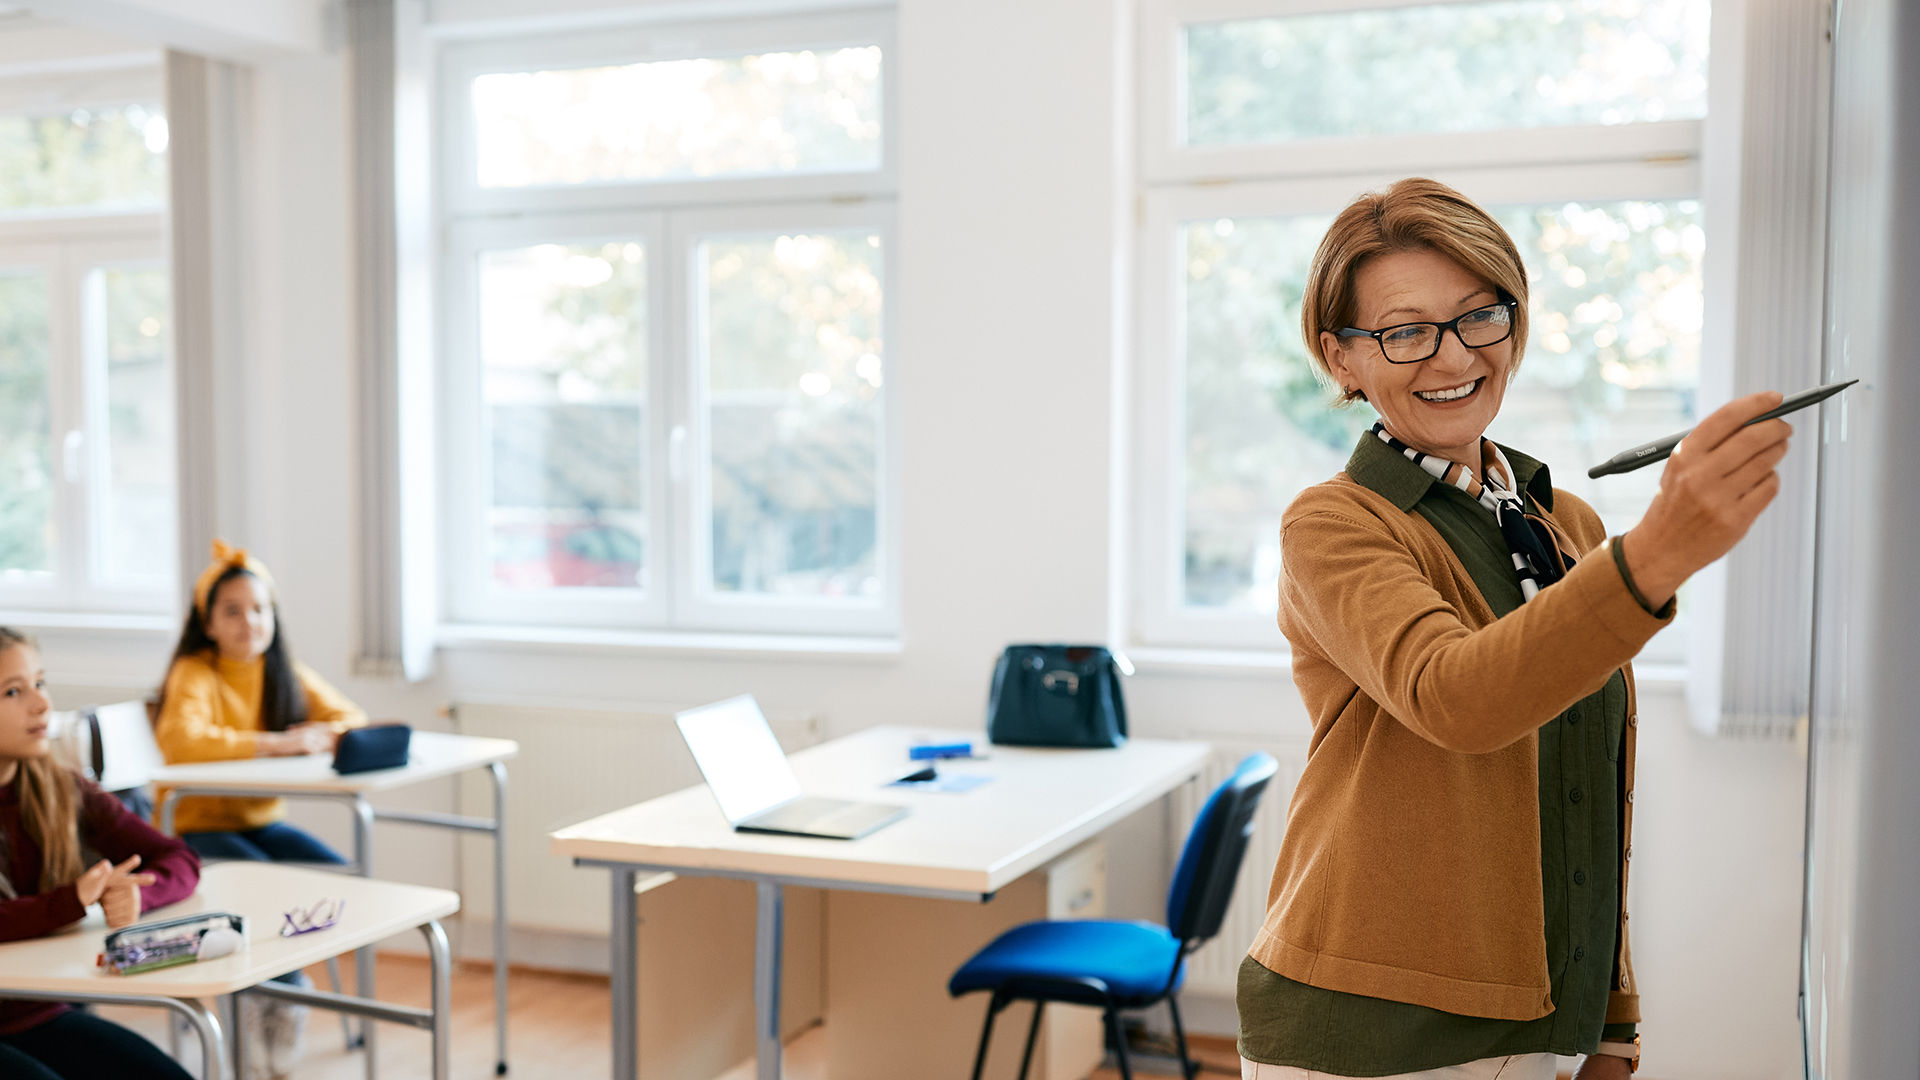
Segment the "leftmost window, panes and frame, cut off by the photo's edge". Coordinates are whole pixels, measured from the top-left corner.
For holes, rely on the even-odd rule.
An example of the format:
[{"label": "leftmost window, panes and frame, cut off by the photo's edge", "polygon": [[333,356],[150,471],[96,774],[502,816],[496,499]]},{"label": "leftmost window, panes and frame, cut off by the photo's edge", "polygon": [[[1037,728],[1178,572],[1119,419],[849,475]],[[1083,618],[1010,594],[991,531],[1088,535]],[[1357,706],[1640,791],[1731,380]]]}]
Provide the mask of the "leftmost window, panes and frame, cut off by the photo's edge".
[{"label": "leftmost window, panes and frame, cut off by the photo's edge", "polygon": [[29,619],[173,603],[157,83],[60,110],[0,90],[0,605]]}]

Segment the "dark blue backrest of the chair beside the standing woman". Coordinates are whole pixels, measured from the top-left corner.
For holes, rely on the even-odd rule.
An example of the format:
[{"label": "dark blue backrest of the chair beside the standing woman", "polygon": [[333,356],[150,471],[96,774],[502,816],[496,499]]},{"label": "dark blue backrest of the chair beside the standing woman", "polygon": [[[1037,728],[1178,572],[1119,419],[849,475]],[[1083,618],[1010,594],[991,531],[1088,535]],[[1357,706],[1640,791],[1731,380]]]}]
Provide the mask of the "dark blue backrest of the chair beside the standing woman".
[{"label": "dark blue backrest of the chair beside the standing woman", "polygon": [[1219,934],[1254,834],[1254,811],[1279,767],[1271,753],[1248,753],[1194,817],[1167,890],[1167,930],[1188,947]]}]

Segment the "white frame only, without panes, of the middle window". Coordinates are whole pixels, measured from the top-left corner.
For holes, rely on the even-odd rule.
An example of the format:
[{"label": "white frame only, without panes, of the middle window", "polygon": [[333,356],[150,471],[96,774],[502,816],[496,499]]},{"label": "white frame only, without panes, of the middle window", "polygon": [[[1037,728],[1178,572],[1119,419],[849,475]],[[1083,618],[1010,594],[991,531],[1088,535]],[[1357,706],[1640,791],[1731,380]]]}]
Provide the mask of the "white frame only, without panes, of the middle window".
[{"label": "white frame only, without panes, of the middle window", "polygon": [[[728,234],[862,229],[881,236],[881,334],[897,342],[899,73],[895,23],[887,12],[641,23],[540,38],[449,40],[436,63],[440,111],[438,209],[442,281],[438,296],[438,405],[444,523],[442,611],[449,626],[526,626],[528,630],[639,630],[666,634],[793,634],[885,638],[899,634],[899,365],[887,363],[876,432],[876,559],[881,598],[874,603],[826,598],[722,596],[703,588],[712,553],[705,465],[710,459],[705,356],[699,336],[699,242]],[[803,48],[877,44],[881,48],[881,161],[874,169],[712,179],[605,181],[524,188],[482,188],[470,81],[503,71],[540,71],[741,56]],[[486,530],[488,463],[484,442],[478,332],[478,256],[532,244],[599,242],[632,236],[647,244],[647,573],[643,598],[632,590],[490,590]],[[476,454],[478,450],[478,454]],[[603,596],[593,596],[603,594]],[[611,596],[607,596],[611,594]]]}]

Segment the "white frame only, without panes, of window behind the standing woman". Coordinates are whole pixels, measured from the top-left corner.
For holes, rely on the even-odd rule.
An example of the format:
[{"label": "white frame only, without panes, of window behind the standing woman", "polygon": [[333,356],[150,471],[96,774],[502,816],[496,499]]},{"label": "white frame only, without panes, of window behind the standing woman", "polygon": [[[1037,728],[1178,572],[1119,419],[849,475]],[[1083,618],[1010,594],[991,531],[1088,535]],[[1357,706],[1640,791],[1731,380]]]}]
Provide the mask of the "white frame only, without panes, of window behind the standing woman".
[{"label": "white frame only, without panes, of window behind the standing woman", "polygon": [[[1478,0],[1382,0],[1415,8]],[[1198,21],[1352,12],[1336,0],[1142,0],[1140,144],[1133,356],[1135,498],[1133,567],[1125,611],[1129,642],[1144,650],[1286,653],[1273,617],[1187,605],[1185,594],[1185,273],[1179,256],[1190,221],[1336,213],[1361,190],[1427,175],[1473,192],[1484,206],[1611,200],[1701,200],[1703,119],[1619,127],[1546,127],[1496,133],[1498,161],[1463,160],[1440,135],[1313,138],[1231,148],[1179,144],[1183,27]],[[1711,244],[1711,240],[1709,240]],[[1715,350],[1701,350],[1701,380]],[[1331,394],[1329,394],[1331,402]],[[1331,407],[1331,405],[1329,405]],[[1561,469],[1574,463],[1559,463]],[[1609,523],[1626,528],[1632,523]],[[1686,628],[1668,628],[1644,651],[1682,663]]]}]

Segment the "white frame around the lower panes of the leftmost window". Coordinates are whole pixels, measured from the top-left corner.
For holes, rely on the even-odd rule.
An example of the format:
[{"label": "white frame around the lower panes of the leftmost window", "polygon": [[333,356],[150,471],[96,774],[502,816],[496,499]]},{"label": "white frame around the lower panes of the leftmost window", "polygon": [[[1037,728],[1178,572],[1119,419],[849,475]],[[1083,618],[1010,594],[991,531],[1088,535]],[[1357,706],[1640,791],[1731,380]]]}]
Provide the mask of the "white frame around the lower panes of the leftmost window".
[{"label": "white frame around the lower panes of the leftmost window", "polygon": [[[40,273],[48,286],[48,461],[54,480],[58,542],[44,582],[0,578],[0,609],[35,621],[40,615],[171,615],[177,580],[111,578],[104,571],[106,342],[92,319],[88,277],[94,271],[159,267],[169,271],[163,211],[27,213],[0,219],[0,273]],[[171,281],[169,281],[171,286]],[[167,319],[169,413],[179,392],[179,357]],[[79,436],[79,438],[75,438]],[[179,490],[179,477],[175,477]],[[179,502],[175,500],[175,515]],[[169,532],[171,536],[171,532]],[[169,559],[167,567],[177,565]]]}]

